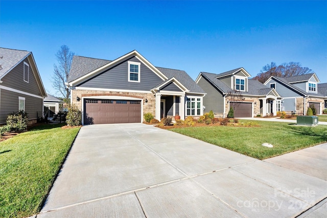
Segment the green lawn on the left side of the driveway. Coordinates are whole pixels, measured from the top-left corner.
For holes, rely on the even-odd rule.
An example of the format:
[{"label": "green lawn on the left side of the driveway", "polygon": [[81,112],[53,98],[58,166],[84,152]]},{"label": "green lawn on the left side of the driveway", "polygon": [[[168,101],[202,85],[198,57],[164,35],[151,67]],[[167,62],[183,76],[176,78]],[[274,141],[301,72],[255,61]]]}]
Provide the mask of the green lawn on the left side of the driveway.
[{"label": "green lawn on the left side of the driveway", "polygon": [[0,217],[40,211],[80,128],[42,125],[0,142]]}]

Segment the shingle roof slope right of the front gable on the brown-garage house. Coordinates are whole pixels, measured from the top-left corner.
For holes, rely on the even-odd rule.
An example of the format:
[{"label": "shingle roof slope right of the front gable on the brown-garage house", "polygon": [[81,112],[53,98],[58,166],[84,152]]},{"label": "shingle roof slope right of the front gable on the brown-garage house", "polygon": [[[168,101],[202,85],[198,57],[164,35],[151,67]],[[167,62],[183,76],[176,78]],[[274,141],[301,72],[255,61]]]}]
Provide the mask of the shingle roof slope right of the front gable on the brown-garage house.
[{"label": "shingle roof slope right of the front gable on the brown-garage house", "polygon": [[167,78],[175,77],[183,86],[190,90],[193,93],[205,93],[203,89],[192,80],[192,78],[186,74],[184,70],[178,69],[169,69],[163,67],[156,67],[162,74]]}]

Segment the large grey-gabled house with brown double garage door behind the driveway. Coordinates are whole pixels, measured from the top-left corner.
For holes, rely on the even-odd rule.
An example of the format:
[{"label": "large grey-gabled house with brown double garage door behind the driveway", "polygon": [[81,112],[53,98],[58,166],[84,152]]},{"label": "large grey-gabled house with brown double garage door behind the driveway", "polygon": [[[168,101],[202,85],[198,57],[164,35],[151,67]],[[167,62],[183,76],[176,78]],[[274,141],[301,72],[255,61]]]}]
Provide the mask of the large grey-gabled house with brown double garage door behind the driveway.
[{"label": "large grey-gabled house with brown double garage door behind the driveway", "polygon": [[155,67],[135,50],[113,61],[74,56],[67,81],[83,125],[203,114],[205,93],[185,71]]}]

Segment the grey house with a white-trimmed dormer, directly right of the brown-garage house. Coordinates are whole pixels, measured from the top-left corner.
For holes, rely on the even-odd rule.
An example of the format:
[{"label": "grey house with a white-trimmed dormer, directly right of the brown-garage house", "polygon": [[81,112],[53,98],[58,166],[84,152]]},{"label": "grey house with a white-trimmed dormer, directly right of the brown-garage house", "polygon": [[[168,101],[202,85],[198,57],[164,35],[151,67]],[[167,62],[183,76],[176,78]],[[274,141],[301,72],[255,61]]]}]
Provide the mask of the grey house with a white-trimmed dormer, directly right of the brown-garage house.
[{"label": "grey house with a white-trimmed dormer, directly right of the brown-garage house", "polygon": [[[276,115],[280,110],[279,94],[274,88],[267,88],[249,77],[251,75],[243,67],[222,74],[200,72],[195,82],[207,93],[203,98],[204,112],[212,110],[216,116],[227,117],[233,106],[235,117]],[[232,102],[237,100],[232,98],[236,95],[243,95],[244,100]]]}]

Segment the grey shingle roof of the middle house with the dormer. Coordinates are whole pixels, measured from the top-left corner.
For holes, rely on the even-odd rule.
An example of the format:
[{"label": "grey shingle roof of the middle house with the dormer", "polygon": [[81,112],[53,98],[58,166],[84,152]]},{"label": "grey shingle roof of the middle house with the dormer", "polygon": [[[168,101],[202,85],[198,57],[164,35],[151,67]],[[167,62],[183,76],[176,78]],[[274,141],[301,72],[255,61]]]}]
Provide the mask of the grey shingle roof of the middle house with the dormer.
[{"label": "grey shingle roof of the middle house with the dormer", "polygon": [[[238,68],[240,69],[240,68]],[[236,70],[238,70],[236,69]],[[236,70],[230,70],[230,71],[236,71]],[[227,71],[227,72],[230,72]],[[212,74],[210,72],[201,72],[201,74],[206,77],[208,80],[210,80],[212,83],[214,83],[219,89],[221,89],[224,93],[231,92],[231,89],[222,81],[217,79],[217,75],[222,74]],[[224,74],[224,73],[223,73]],[[226,74],[228,75],[228,74]],[[250,80],[248,79],[248,91],[242,92],[244,94],[250,94],[250,95],[266,95],[268,94],[272,88],[267,88],[264,84],[262,84],[259,81],[256,80]]]}]

